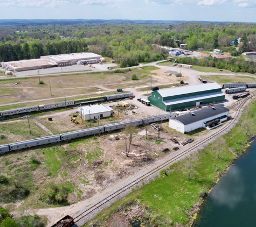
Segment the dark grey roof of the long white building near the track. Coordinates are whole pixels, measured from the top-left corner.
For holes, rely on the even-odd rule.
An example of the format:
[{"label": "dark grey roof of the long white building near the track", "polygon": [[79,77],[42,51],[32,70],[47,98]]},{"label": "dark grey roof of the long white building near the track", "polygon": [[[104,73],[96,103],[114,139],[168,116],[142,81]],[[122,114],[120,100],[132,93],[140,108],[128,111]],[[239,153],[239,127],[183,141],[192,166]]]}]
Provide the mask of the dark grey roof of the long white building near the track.
[{"label": "dark grey roof of the long white building near the track", "polygon": [[[211,107],[200,108],[193,111],[190,110],[190,113],[170,118],[170,120],[177,120],[178,122],[181,122],[184,125],[189,125],[209,117],[214,118],[214,116],[219,115],[220,113],[226,113],[227,111],[229,111],[229,109],[225,108],[222,104],[219,104],[213,105]],[[195,115],[193,116],[191,112],[194,112]]]}]

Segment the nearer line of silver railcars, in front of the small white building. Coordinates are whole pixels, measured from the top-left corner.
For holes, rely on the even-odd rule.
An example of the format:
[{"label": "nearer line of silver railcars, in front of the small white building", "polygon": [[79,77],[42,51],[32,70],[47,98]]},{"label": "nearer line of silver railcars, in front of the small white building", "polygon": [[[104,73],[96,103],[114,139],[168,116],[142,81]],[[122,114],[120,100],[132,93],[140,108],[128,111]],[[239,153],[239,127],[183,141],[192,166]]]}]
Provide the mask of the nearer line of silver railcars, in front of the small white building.
[{"label": "nearer line of silver railcars, in front of the small white building", "polygon": [[148,117],[143,119],[135,119],[129,122],[121,122],[115,124],[104,125],[100,127],[92,127],[90,129],[78,130],[74,132],[66,132],[57,134],[49,137],[41,137],[37,139],[30,139],[25,141],[19,141],[11,144],[0,145],[0,154],[4,154],[12,151],[19,151],[27,149],[30,147],[36,147],[41,145],[56,144],[62,141],[68,141],[73,139],[79,139],[86,136],[94,136],[100,133],[113,132],[115,130],[124,129],[127,125],[141,126],[147,125],[154,122],[162,122],[163,120],[168,120],[170,118],[170,113],[165,115],[159,115],[154,117]]}]

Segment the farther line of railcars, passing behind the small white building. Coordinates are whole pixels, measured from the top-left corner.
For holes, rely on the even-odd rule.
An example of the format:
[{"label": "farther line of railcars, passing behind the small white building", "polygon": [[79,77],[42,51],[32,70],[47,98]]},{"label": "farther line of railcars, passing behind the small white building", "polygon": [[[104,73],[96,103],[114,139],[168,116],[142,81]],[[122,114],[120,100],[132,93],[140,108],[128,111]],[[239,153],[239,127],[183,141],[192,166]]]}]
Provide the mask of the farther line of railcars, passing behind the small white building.
[{"label": "farther line of railcars, passing behind the small white building", "polygon": [[41,110],[51,110],[61,107],[70,107],[72,105],[80,105],[80,104],[89,104],[93,102],[101,102],[101,101],[112,101],[117,100],[120,98],[129,98],[133,96],[133,93],[122,93],[122,94],[115,94],[115,95],[106,95],[101,97],[93,97],[93,98],[84,98],[78,100],[67,100],[63,102],[56,102],[56,103],[48,103],[42,105],[33,105],[32,107],[23,107],[11,110],[2,110],[0,111],[0,116],[11,116],[11,115],[18,115],[19,113],[29,113],[33,111],[41,111]]}]

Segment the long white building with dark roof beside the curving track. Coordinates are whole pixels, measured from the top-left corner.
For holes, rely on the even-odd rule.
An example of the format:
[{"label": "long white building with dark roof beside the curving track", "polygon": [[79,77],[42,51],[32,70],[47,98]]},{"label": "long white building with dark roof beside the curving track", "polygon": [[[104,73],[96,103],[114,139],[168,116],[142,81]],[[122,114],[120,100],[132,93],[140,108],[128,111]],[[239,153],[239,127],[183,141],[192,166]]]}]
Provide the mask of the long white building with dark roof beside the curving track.
[{"label": "long white building with dark roof beside the curving track", "polygon": [[223,105],[214,105],[211,107],[200,108],[190,111],[178,117],[171,117],[169,126],[176,131],[186,133],[204,127],[205,129],[214,129],[222,125],[227,120],[229,109]]}]

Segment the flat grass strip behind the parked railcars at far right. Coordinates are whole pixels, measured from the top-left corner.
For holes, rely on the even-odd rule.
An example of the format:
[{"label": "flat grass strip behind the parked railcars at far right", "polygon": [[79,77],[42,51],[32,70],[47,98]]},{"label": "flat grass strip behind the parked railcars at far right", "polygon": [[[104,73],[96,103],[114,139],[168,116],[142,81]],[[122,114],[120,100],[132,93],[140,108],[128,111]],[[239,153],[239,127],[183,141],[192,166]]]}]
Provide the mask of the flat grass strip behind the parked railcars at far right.
[{"label": "flat grass strip behind the parked railcars at far right", "polygon": [[255,83],[256,77],[253,76],[233,76],[233,75],[203,75],[202,79],[207,82],[217,83]]}]

